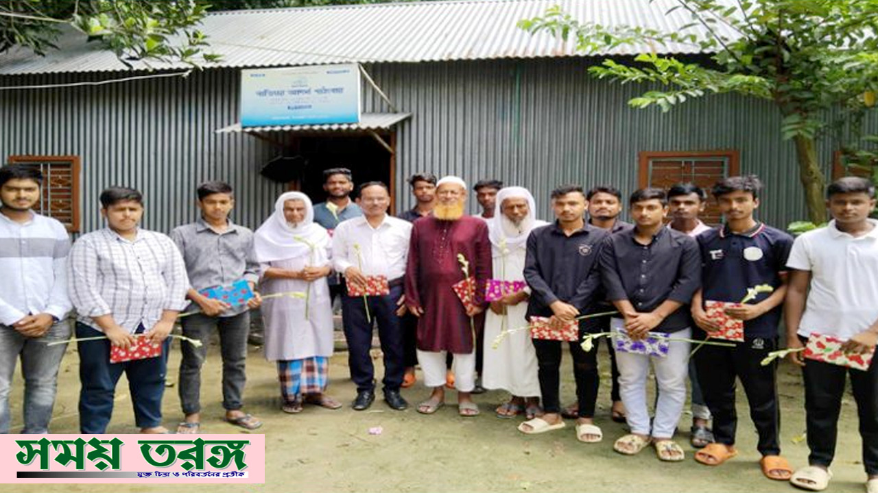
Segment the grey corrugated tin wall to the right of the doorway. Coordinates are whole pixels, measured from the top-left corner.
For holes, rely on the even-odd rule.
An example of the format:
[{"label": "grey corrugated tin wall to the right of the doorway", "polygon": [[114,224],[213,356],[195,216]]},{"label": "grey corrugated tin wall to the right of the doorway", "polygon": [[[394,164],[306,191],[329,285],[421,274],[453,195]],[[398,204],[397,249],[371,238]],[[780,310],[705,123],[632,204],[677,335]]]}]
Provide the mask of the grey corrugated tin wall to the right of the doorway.
[{"label": "grey corrugated tin wall to the right of the doorway", "polygon": [[[398,182],[415,171],[498,178],[526,186],[543,217],[561,183],[637,187],[639,151],[734,148],[741,170],[766,182],[760,216],[775,225],[802,218],[795,150],[781,141],[774,106],[739,96],[709,96],[668,113],[626,102],[644,89],[597,81],[587,61],[493,61],[369,68],[400,111]],[[380,108],[377,96],[367,106]],[[830,153],[821,150],[829,171]],[[406,189],[397,199],[409,206]]]}]

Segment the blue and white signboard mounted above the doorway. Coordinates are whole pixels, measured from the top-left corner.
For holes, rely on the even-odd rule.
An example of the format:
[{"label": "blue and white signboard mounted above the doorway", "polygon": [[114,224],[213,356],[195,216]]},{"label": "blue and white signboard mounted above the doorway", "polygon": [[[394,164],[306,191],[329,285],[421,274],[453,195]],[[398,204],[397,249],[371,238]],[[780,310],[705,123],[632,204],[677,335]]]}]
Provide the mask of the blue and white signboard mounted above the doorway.
[{"label": "blue and white signboard mounted above the doorway", "polygon": [[241,70],[241,126],[359,121],[356,63]]}]

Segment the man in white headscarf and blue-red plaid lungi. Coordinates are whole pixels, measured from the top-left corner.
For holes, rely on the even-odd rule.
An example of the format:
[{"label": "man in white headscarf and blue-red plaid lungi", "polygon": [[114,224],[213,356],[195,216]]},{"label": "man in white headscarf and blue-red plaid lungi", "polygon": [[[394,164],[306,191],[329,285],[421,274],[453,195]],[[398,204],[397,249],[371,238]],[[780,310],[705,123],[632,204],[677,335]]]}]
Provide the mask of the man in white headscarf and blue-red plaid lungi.
[{"label": "man in white headscarf and blue-red plaid lungi", "polygon": [[[255,232],[256,260],[263,273],[265,358],[277,361],[284,412],[302,404],[338,409],[324,394],[333,353],[332,305],[327,275],[331,242],[313,222],[311,199],[300,192],[277,198],[275,211]],[[271,297],[277,293],[293,296]]]}]

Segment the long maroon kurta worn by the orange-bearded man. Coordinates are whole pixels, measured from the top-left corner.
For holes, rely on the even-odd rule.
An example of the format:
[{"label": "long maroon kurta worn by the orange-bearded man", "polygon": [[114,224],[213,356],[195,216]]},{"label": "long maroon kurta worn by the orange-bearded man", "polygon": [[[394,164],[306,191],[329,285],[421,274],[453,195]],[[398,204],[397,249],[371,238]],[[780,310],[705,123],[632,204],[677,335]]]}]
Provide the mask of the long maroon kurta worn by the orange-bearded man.
[{"label": "long maroon kurta worn by the orange-bearded man", "polygon": [[475,275],[476,303],[486,307],[485,282],[491,277],[491,243],[482,219],[464,216],[441,221],[432,216],[414,222],[406,269],[406,304],[420,306],[418,349],[472,353],[472,329],[464,305],[451,286],[464,280],[457,261],[464,254]]}]

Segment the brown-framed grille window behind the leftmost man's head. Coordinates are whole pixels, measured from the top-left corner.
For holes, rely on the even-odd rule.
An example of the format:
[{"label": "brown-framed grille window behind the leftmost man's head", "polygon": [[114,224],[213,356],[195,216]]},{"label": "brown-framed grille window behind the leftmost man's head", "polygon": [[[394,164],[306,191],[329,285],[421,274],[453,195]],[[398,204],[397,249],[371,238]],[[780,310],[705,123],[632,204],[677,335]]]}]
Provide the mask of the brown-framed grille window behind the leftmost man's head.
[{"label": "brown-framed grille window behind the leftmost man's head", "polygon": [[40,168],[42,197],[34,210],[61,221],[68,232],[79,232],[79,157],[10,156],[10,164]]}]

